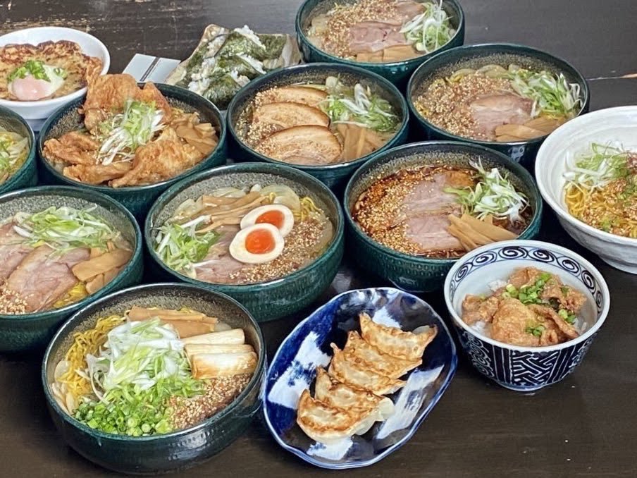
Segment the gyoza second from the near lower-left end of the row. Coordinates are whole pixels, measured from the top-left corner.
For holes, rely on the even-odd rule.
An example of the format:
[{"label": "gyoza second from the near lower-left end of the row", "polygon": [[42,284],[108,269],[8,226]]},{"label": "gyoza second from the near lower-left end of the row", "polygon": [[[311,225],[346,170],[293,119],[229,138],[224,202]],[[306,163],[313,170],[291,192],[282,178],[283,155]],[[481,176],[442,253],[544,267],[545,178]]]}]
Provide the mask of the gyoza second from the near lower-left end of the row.
[{"label": "gyoza second from the near lower-left end of the row", "polygon": [[371,408],[378,412],[379,421],[388,419],[394,412],[394,403],[390,398],[380,397],[370,391],[342,384],[331,378],[323,367],[316,369],[314,397],[332,407],[345,408],[345,410]]}]

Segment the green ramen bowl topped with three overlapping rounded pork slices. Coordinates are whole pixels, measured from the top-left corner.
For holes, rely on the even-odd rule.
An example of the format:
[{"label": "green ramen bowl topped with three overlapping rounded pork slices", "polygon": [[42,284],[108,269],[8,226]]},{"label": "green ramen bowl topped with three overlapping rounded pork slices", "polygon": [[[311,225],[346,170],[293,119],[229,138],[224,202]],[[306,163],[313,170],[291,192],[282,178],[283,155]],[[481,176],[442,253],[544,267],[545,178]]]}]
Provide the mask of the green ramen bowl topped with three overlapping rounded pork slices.
[{"label": "green ramen bowl topped with three overlapping rounded pork slices", "polygon": [[391,82],[333,63],[268,73],[228,106],[228,129],[245,157],[292,166],[332,189],[373,154],[402,145],[408,119]]}]

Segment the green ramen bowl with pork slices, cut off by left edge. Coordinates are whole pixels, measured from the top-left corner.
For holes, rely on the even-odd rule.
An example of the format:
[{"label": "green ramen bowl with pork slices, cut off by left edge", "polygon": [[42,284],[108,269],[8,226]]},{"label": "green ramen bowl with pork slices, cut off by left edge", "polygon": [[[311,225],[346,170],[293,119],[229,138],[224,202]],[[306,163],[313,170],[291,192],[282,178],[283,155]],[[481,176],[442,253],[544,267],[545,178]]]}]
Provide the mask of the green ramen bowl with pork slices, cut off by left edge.
[{"label": "green ramen bowl with pork slices, cut off by left edge", "polygon": [[62,186],[0,196],[0,257],[1,352],[43,347],[73,312],[142,278],[130,212]]}]

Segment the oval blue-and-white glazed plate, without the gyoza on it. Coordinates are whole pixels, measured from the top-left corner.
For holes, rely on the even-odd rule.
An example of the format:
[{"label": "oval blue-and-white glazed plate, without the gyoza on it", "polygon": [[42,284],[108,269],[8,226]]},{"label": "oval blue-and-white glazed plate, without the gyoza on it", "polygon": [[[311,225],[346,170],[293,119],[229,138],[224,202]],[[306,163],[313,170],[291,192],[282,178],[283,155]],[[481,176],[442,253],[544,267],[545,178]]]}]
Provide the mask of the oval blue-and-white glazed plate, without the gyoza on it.
[{"label": "oval blue-and-white glazed plate, without the gyoza on it", "polygon": [[[316,443],[296,424],[299,396],[314,381],[316,367],[330,362],[330,343],[342,348],[347,332],[359,330],[361,312],[407,331],[436,325],[438,335],[425,350],[423,364],[409,372],[407,385],[391,396],[395,413],[387,422],[376,423],[364,436],[329,446]],[[329,469],[371,465],[411,438],[440,400],[456,367],[450,332],[426,302],[394,288],[350,290],[316,310],[281,344],[266,379],[266,424],[283,448],[313,465]]]}]

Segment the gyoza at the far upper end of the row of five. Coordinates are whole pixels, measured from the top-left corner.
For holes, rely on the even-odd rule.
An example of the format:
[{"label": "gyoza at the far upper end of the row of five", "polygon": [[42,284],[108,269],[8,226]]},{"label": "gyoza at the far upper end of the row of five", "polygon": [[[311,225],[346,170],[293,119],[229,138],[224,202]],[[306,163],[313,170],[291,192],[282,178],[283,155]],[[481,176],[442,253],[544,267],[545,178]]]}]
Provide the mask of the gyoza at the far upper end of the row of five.
[{"label": "gyoza at the far upper end of the row of five", "polygon": [[365,312],[359,315],[361,335],[381,352],[403,360],[421,359],[425,348],[438,333],[438,328],[419,327],[419,333],[405,332],[397,327],[376,324]]}]

